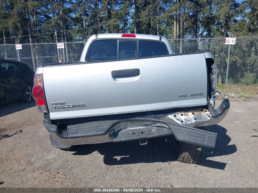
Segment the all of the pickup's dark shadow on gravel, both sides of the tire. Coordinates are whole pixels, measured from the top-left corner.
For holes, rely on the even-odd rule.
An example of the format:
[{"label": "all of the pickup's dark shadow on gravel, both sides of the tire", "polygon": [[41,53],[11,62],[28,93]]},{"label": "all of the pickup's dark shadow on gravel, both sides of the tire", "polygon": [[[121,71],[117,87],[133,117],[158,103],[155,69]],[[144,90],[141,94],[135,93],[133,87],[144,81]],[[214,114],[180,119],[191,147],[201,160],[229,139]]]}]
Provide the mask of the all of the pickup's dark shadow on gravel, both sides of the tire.
[{"label": "all of the pickup's dark shadow on gravel, both sides of the tire", "polygon": [[[205,130],[218,133],[215,149],[202,148],[200,166],[224,170],[227,163],[212,161],[207,158],[229,155],[237,151],[235,145],[228,145],[231,138],[226,134],[227,130],[219,125],[206,127]],[[74,147],[73,155],[89,155],[98,151],[104,155],[106,165],[122,165],[132,163],[154,163],[177,161],[171,151],[169,143],[165,142],[165,137],[152,138],[147,145],[139,145],[139,141],[127,141],[123,143],[102,143],[77,145]]]}]

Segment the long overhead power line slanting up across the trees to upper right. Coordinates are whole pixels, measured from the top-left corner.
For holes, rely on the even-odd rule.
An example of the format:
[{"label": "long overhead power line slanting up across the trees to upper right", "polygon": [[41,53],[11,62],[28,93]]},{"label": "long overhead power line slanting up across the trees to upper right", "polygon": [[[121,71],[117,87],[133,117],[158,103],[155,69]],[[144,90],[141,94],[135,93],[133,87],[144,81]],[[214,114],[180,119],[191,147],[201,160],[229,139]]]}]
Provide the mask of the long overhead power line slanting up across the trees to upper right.
[{"label": "long overhead power line slanting up across the trees to upper right", "polygon": [[[187,10],[187,11],[182,11],[181,13],[189,13],[189,12],[192,12],[192,11],[197,11],[197,10],[202,10],[202,9],[210,9],[210,8],[214,8],[214,7],[220,7],[220,6],[224,6],[224,5],[231,5],[231,4],[236,4],[236,3],[239,3],[239,2],[245,2],[245,1],[247,1],[247,0],[231,2],[231,3],[225,3],[225,4],[220,4],[220,5],[213,5],[213,6],[210,6],[210,7],[198,8],[198,9],[191,9],[191,10]],[[130,20],[130,21],[139,21],[139,20],[144,20],[144,19],[151,19],[151,18],[156,18],[156,17],[169,16],[169,15],[174,15],[174,14],[175,13],[168,13],[168,14],[163,14],[163,15],[160,15],[160,16],[151,16],[151,17],[145,17],[145,18],[140,18],[140,19],[135,19],[135,20]],[[89,28],[93,28],[93,27],[101,27],[101,26],[107,26],[107,25],[113,25],[113,24],[119,24],[119,23],[125,23],[125,22],[128,22],[128,21],[106,23],[106,24],[101,24],[101,25],[96,25],[96,26],[81,27],[81,28],[75,28],[75,29],[69,29],[69,30],[63,30],[63,31],[89,29]],[[56,32],[62,32],[62,31],[56,31]],[[35,35],[43,35],[43,34],[52,34],[52,33],[55,33],[55,32],[53,31],[53,32],[46,32],[46,33],[33,34],[33,35],[16,36],[15,38],[35,36]],[[9,38],[14,38],[14,37],[9,37]],[[9,39],[9,38],[5,38],[5,39]],[[2,39],[4,39],[4,38],[0,38],[0,40],[2,40]]]}]

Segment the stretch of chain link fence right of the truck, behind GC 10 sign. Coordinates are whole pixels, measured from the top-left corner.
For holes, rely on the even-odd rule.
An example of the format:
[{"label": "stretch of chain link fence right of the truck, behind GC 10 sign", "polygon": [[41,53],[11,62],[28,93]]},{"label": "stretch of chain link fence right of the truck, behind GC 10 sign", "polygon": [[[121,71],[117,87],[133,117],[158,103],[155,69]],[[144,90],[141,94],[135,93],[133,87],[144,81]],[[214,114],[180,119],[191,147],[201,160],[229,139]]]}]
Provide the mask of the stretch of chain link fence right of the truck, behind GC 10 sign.
[{"label": "stretch of chain link fence right of the truck, behind GC 10 sign", "polygon": [[227,84],[258,85],[258,37],[237,38],[230,50],[225,38],[170,39],[170,43],[175,53],[211,50],[217,63],[218,84],[226,84],[227,79]]}]

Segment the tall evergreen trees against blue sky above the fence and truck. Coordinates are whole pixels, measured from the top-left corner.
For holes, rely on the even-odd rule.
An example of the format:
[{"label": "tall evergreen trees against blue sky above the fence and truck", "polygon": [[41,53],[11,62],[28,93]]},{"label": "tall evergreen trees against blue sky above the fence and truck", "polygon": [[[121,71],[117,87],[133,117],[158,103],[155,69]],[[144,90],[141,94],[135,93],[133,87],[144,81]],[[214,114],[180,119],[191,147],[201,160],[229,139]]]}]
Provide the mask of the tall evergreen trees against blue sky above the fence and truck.
[{"label": "tall evergreen trees against blue sky above the fence and truck", "polygon": [[[233,3],[231,0],[0,2],[3,5],[0,19],[4,23],[0,26],[2,43],[4,35],[6,43],[17,43],[20,39],[30,43],[63,40],[67,45],[63,50],[67,61],[69,40],[85,42],[97,33],[172,34],[183,43],[184,38],[225,36],[227,32],[249,34],[258,30],[258,3],[255,0]],[[197,42],[195,46],[198,46]],[[180,50],[183,52],[178,48],[178,52]]]}]

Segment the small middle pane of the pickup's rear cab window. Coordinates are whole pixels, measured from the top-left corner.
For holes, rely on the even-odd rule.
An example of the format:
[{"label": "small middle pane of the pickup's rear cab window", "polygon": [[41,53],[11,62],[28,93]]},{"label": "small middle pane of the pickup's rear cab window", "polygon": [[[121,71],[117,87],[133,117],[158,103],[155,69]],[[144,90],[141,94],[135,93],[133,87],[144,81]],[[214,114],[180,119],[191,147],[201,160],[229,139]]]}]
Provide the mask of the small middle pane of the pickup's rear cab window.
[{"label": "small middle pane of the pickup's rear cab window", "polygon": [[136,58],[137,41],[119,41],[119,59]]}]

